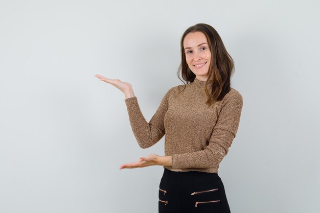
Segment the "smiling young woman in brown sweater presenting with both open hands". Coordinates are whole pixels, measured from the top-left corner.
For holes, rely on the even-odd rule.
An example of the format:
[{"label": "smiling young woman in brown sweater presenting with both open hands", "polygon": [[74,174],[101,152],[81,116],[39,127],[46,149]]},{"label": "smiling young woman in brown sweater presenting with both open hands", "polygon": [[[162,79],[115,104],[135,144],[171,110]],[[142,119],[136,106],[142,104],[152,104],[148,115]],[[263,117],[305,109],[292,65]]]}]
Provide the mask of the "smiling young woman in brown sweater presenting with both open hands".
[{"label": "smiling young woman in brown sweater presenting with both open hands", "polygon": [[97,78],[125,94],[132,131],[141,148],[164,135],[165,156],[150,154],[120,169],[163,165],[159,184],[159,213],[230,212],[219,163],[236,136],[243,105],[231,87],[234,64],[217,31],[198,23],[186,30],[181,42],[182,79],[170,88],[148,123],[129,83]]}]

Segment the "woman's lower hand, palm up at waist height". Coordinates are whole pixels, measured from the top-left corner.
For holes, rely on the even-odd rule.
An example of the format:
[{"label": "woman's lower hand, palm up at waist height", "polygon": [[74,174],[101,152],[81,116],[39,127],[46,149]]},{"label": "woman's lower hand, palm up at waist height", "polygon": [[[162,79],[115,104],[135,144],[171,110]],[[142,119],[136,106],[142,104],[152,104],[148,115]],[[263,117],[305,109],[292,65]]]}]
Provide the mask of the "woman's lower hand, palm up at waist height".
[{"label": "woman's lower hand, palm up at waist height", "polygon": [[138,162],[125,163],[120,169],[134,169],[149,167],[150,165],[172,165],[171,156],[159,156],[150,154],[146,157],[140,157]]}]

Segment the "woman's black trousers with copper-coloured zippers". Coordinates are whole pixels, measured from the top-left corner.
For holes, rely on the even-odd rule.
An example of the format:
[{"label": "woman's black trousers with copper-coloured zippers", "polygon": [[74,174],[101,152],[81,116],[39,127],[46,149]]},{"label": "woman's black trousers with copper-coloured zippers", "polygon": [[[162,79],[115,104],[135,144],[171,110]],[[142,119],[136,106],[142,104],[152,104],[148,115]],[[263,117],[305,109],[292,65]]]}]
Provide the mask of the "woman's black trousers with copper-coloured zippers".
[{"label": "woman's black trousers with copper-coloured zippers", "polygon": [[[191,195],[194,192],[198,193]],[[196,202],[207,201],[213,202],[196,206]],[[159,184],[158,205],[159,213],[230,213],[224,186],[217,173],[165,169]]]}]

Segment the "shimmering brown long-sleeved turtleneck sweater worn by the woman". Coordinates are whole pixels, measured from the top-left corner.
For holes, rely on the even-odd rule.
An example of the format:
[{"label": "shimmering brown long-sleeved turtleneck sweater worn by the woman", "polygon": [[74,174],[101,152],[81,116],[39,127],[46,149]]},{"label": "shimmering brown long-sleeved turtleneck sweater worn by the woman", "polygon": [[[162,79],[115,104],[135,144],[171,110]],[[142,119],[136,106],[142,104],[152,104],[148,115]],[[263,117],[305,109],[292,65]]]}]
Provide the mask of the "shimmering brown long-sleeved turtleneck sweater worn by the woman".
[{"label": "shimmering brown long-sleeved turtleneck sweater worn by the woman", "polygon": [[172,156],[172,167],[164,168],[217,173],[236,136],[243,106],[241,94],[231,88],[209,107],[204,86],[205,81],[195,79],[185,89],[184,84],[170,88],[149,122],[136,97],[125,99],[140,147],[151,147],[166,135],[165,155]]}]

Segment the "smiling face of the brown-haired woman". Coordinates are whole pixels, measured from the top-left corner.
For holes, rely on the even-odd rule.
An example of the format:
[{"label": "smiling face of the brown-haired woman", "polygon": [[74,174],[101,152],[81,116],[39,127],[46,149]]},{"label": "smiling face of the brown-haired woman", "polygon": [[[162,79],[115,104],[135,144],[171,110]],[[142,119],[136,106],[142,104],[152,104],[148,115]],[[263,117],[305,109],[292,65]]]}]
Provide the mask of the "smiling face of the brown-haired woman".
[{"label": "smiling face of the brown-haired woman", "polygon": [[202,32],[189,33],[184,39],[186,61],[192,73],[200,81],[207,81],[211,51],[207,37]]}]

